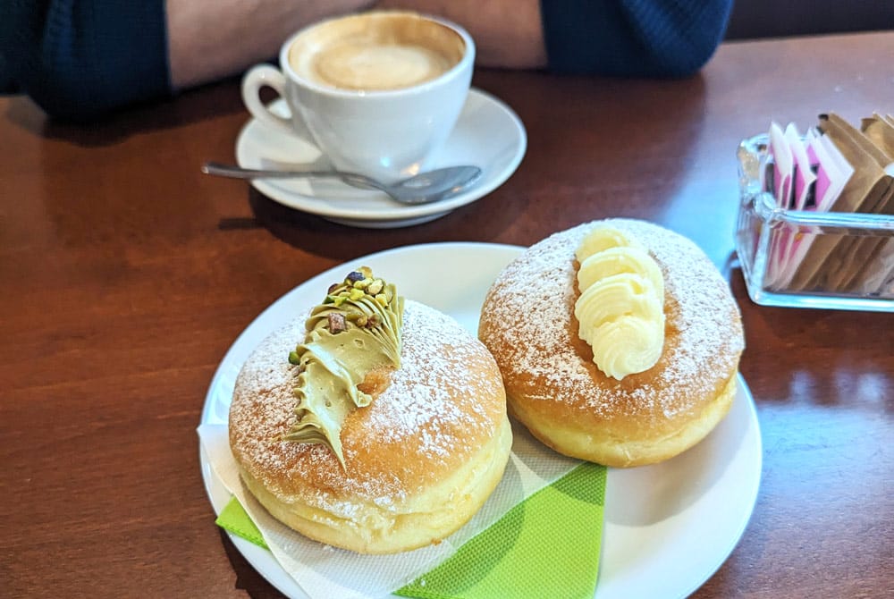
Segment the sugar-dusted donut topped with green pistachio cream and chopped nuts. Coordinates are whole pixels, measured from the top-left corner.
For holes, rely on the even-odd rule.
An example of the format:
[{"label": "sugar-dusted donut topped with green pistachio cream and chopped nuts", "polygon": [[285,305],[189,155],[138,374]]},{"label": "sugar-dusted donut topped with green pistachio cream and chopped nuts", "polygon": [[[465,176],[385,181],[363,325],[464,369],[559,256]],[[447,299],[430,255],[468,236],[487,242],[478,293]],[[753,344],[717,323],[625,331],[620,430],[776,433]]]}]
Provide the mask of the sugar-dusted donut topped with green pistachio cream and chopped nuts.
[{"label": "sugar-dusted donut topped with green pistachio cream and chopped nuts", "polygon": [[[379,314],[401,325],[397,365],[358,366],[366,360],[358,352],[378,351],[375,335],[362,335],[383,326],[370,326],[374,294],[338,301],[351,291],[350,276],[345,283],[330,288],[307,325],[296,319],[272,333],[242,367],[230,409],[233,456],[251,494],[311,539],[358,553],[437,543],[479,510],[509,460],[500,371],[450,316],[402,299],[395,313]],[[347,318],[333,325],[333,311]],[[320,323],[325,330],[308,333]],[[338,349],[326,354],[329,342]],[[350,409],[331,380],[345,368],[360,371],[356,386],[345,385],[358,396]],[[327,443],[328,434],[337,441]]]}]

